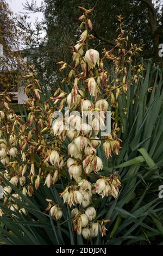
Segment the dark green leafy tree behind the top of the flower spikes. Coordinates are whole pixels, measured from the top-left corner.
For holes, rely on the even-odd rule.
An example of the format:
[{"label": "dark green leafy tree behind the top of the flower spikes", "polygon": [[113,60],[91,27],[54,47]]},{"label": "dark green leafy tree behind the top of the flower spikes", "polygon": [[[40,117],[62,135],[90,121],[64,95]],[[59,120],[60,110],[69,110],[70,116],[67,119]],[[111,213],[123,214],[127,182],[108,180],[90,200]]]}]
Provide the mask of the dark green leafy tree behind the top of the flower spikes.
[{"label": "dark green leafy tree behind the top of the flower spikes", "polygon": [[92,33],[98,40],[97,50],[114,46],[118,26],[117,15],[122,15],[126,31],[133,31],[130,41],[137,45],[145,44],[142,56],[160,60],[158,46],[161,43],[163,21],[160,1],[153,3],[152,0],[92,0],[90,4],[88,0],[45,0],[39,8],[36,7],[35,1],[31,4],[27,2],[25,5],[27,10],[43,11],[44,14],[41,25],[45,27],[46,35],[37,44],[39,60],[36,53],[35,64],[40,78],[44,78],[48,84],[56,82],[55,63],[62,57],[65,60],[70,58],[71,52],[68,46],[74,45],[73,34],[76,36],[79,34],[76,23],[79,14],[76,10],[78,5],[88,9],[95,7]]}]

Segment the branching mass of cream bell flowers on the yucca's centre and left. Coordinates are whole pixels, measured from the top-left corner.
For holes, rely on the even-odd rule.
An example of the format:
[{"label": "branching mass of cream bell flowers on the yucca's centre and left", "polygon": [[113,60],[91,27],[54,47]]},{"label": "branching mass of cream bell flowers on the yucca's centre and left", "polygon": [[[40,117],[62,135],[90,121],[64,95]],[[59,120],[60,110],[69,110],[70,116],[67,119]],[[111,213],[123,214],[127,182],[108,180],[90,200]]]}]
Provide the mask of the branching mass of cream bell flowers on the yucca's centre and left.
[{"label": "branching mass of cream bell flowers on the yucca's centre and left", "polygon": [[[72,208],[74,231],[89,239],[98,232],[105,235],[105,223],[109,222],[98,220],[93,200],[108,196],[117,198],[121,186],[117,174],[102,176],[103,160],[98,155],[99,150],[104,150],[109,159],[112,154],[120,153],[122,141],[117,137],[119,128],[115,122],[111,133],[105,132],[102,136],[108,124],[106,112],[116,105],[120,89],[111,87],[108,93],[109,74],[104,69],[104,59],[109,59],[111,53],[104,51],[100,58],[97,50],[89,48],[89,40],[95,36],[91,34],[92,23],[87,16],[93,9],[80,9],[83,11],[79,17],[80,29],[84,31],[77,44],[71,47],[74,64],[58,63],[61,65],[59,72],[67,72],[61,88],[63,84],[68,85],[71,87],[69,93],[58,88],[52,97],[41,103],[41,86],[34,67],[30,67],[30,74],[24,77],[30,80],[26,87],[27,121],[10,109],[7,94],[0,95],[4,106],[0,111],[0,160],[3,164],[0,183],[6,179],[24,195],[32,197],[41,185],[49,188],[64,178],[60,197]],[[65,113],[63,119],[54,118],[54,112],[61,113],[64,106],[68,107],[70,115]],[[114,112],[112,119],[115,120]],[[14,202],[14,197],[21,198],[11,186],[3,184],[3,196],[9,209],[26,214],[26,210]],[[46,200],[46,211],[59,221],[65,208],[52,199]]]}]

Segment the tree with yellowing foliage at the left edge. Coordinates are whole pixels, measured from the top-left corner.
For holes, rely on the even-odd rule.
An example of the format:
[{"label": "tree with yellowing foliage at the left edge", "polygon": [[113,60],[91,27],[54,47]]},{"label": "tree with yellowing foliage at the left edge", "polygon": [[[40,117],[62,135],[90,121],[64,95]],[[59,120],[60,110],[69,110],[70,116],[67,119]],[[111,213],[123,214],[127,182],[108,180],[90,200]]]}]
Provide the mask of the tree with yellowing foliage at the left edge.
[{"label": "tree with yellowing foliage at the left edge", "polygon": [[0,2],[0,44],[2,54],[0,60],[0,86],[10,88],[17,86],[20,70],[22,69],[20,34],[16,19],[12,16],[5,1]]}]

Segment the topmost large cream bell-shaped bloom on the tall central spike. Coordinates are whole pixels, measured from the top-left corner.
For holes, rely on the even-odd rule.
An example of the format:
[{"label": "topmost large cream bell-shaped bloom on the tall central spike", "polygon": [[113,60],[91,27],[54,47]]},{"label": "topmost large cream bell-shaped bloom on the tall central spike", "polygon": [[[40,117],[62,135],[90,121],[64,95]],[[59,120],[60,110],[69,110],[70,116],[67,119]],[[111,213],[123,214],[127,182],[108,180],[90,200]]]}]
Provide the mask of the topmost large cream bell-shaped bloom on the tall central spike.
[{"label": "topmost large cream bell-shaped bloom on the tall central spike", "polygon": [[90,69],[95,68],[96,64],[99,65],[99,52],[93,49],[87,50],[85,60]]}]

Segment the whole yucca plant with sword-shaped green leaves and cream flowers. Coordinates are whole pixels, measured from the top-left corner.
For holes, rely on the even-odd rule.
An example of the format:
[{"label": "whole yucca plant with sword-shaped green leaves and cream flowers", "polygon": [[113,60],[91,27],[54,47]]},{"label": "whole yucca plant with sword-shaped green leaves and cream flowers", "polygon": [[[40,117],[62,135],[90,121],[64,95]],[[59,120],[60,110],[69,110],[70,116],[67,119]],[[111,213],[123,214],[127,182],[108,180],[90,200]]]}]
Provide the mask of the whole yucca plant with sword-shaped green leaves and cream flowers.
[{"label": "whole yucca plant with sword-shaped green leaves and cream flowers", "polygon": [[[16,115],[10,109],[8,95],[2,95],[1,182],[5,188],[0,203],[1,242],[8,245],[159,244],[162,240],[162,202],[158,197],[162,180],[162,71],[151,62],[148,66],[142,62],[133,65],[132,57],[141,48],[135,45],[128,50],[124,48],[128,36],[124,36],[121,16],[115,49],[104,50],[99,61],[98,52],[89,49],[88,44],[93,36],[88,33],[92,24],[87,15],[92,9],[80,9],[83,15],[79,20],[85,30],[72,48],[75,66],[60,63],[60,71],[70,69],[61,83],[64,89],[59,88],[54,95],[41,93],[31,67],[26,76],[29,79],[27,111],[20,109],[20,115]],[[108,60],[112,64],[106,70]],[[83,72],[78,71],[80,65]],[[102,137],[98,133],[98,120],[94,121],[91,144],[94,147],[86,146],[82,159],[78,147],[74,150],[74,145],[78,146],[74,140],[79,137],[78,131],[71,131],[66,138],[62,124],[55,122],[55,137],[52,133],[53,112],[62,111],[66,101],[71,111],[87,107],[88,103],[102,110],[109,105],[111,111],[111,134]],[[91,140],[89,132],[85,132],[83,129],[83,138]],[[67,168],[64,164],[67,160],[82,161],[82,174],[79,168],[70,169],[76,166],[74,163]],[[119,195],[117,175],[122,184]],[[92,184],[91,198],[90,193],[83,193],[79,188],[83,181],[86,192],[90,192]],[[103,181],[111,186],[111,191],[99,186]],[[65,197],[64,202],[60,194],[63,197],[67,191],[70,194],[73,186],[76,189],[73,198]],[[81,202],[80,194],[75,191],[82,193]]]}]

